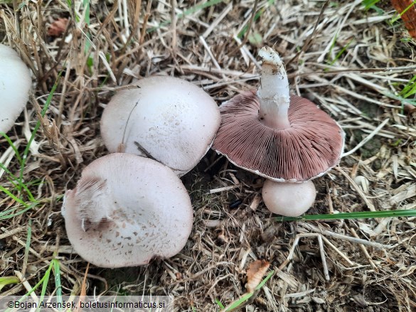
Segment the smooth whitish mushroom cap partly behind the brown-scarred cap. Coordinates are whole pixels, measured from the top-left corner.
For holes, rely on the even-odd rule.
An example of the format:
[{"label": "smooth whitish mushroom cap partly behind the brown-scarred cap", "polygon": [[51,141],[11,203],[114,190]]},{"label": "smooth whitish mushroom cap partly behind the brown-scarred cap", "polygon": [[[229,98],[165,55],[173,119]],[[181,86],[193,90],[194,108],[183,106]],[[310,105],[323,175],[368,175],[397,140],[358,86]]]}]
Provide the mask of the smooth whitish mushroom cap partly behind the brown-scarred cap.
[{"label": "smooth whitish mushroom cap partly behind the brown-scarred cap", "polygon": [[178,176],[190,171],[213,143],[220,112],[215,101],[191,82],[154,76],[117,92],[102,114],[101,134],[110,152],[148,156]]}]

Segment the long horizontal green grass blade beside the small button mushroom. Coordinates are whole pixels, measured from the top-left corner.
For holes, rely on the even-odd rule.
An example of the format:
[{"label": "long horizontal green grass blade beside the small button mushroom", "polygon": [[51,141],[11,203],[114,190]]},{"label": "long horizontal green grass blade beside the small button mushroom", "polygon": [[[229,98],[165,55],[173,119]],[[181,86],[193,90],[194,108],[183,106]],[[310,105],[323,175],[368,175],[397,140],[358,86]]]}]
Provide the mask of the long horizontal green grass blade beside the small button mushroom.
[{"label": "long horizontal green grass blade beside the small button mushroom", "polygon": [[384,210],[361,211],[358,213],[334,213],[328,215],[301,215],[299,217],[275,217],[282,221],[310,221],[310,220],[343,220],[343,219],[372,219],[375,217],[416,217],[416,210]]}]

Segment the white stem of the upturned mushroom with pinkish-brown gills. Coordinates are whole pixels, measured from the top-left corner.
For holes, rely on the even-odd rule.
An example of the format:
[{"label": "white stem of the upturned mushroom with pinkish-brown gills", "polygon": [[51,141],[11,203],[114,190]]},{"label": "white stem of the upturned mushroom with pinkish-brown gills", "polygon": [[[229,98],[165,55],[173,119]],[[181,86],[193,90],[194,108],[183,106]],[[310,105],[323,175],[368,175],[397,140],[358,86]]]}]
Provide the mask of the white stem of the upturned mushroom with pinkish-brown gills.
[{"label": "white stem of the upturned mushroom with pinkish-brown gills", "polygon": [[284,64],[277,52],[264,47],[259,56],[262,60],[262,77],[257,95],[260,99],[259,119],[267,127],[287,129],[290,127],[289,82]]}]

